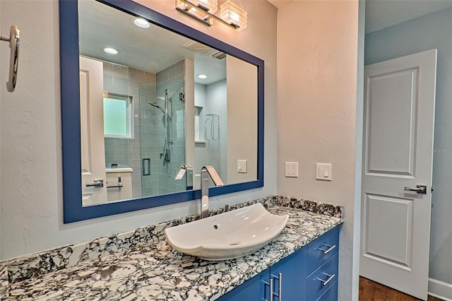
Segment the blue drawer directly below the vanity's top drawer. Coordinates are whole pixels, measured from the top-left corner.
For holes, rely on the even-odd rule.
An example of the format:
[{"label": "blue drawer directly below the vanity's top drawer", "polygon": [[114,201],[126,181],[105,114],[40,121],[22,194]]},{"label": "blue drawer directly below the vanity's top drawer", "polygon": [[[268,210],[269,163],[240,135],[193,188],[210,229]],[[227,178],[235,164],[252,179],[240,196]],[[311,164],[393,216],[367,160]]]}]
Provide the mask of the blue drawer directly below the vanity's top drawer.
[{"label": "blue drawer directly below the vanity's top drawer", "polygon": [[317,300],[338,279],[338,254],[307,276],[307,300]]}]

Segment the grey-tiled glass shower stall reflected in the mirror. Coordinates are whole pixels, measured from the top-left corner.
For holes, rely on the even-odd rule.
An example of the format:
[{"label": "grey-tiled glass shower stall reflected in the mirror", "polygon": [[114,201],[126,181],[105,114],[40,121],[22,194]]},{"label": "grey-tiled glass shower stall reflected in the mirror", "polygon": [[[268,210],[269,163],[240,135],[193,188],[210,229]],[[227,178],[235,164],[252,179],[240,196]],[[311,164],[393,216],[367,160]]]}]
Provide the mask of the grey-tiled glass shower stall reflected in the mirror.
[{"label": "grey-tiled glass shower stall reflected in the mirror", "polygon": [[186,190],[174,176],[185,162],[184,60],[139,86],[142,196]]}]

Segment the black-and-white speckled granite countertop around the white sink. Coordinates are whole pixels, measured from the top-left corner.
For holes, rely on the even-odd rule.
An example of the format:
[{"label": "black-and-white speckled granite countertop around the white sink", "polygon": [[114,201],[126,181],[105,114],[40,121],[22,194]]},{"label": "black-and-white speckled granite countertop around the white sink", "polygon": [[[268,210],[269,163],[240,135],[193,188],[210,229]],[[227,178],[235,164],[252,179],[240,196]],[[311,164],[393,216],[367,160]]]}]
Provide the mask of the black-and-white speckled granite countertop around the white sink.
[{"label": "black-and-white speckled granite countertop around the white sink", "polygon": [[[69,247],[4,262],[0,266],[1,300],[215,300],[343,223],[340,206],[319,202],[299,206],[300,199],[271,198],[254,202],[263,203],[270,213],[290,217],[283,232],[253,254],[227,261],[204,261],[182,254],[162,239],[164,228],[174,225],[166,223],[153,228],[157,239],[117,248],[110,254],[104,251],[94,259],[81,260],[83,256],[78,254],[76,264],[67,261],[65,266],[53,268],[55,271],[43,271],[40,265],[47,262],[48,268],[50,262],[52,266],[55,254],[64,255]],[[310,202],[301,201],[304,205]],[[127,237],[122,233],[114,238],[121,235]]]}]

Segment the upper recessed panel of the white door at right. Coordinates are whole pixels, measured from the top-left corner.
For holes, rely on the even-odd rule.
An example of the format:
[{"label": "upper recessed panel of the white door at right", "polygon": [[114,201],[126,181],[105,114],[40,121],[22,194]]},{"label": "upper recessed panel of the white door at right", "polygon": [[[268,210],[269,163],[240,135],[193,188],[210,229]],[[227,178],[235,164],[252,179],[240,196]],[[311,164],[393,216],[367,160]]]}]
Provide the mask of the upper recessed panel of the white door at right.
[{"label": "upper recessed panel of the white door at right", "polygon": [[412,176],[417,70],[383,73],[368,78],[367,172]]}]

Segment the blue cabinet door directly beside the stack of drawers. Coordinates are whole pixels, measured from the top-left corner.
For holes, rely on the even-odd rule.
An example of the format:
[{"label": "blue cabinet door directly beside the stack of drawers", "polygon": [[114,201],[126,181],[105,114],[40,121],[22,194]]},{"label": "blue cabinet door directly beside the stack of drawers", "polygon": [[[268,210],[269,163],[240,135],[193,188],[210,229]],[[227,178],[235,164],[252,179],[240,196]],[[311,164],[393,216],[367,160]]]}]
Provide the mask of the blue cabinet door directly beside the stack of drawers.
[{"label": "blue cabinet door directly beside the stack of drawers", "polygon": [[[299,249],[270,267],[273,278],[273,300],[304,300],[306,295],[307,248]],[[281,279],[278,279],[281,277]]]}]

